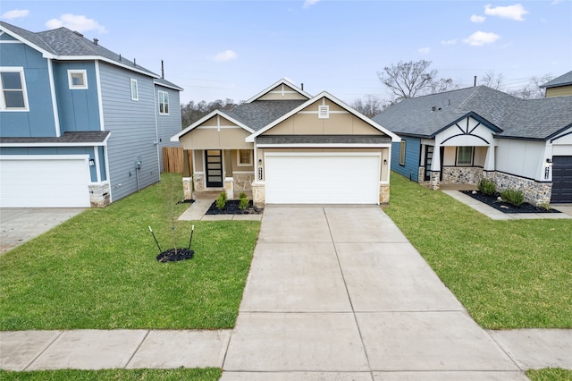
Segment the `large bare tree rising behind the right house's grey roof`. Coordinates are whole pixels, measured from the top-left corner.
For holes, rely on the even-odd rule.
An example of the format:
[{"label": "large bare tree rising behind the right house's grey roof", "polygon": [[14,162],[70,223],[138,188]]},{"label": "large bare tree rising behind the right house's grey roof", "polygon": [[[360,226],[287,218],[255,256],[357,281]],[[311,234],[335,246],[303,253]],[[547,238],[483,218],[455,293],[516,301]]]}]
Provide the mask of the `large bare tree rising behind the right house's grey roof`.
[{"label": "large bare tree rising behind the right house's grey roof", "polygon": [[437,71],[429,70],[430,65],[431,61],[425,60],[407,63],[400,61],[384,67],[383,71],[377,72],[377,77],[391,90],[395,102],[450,89],[454,85],[453,80],[438,80]]}]

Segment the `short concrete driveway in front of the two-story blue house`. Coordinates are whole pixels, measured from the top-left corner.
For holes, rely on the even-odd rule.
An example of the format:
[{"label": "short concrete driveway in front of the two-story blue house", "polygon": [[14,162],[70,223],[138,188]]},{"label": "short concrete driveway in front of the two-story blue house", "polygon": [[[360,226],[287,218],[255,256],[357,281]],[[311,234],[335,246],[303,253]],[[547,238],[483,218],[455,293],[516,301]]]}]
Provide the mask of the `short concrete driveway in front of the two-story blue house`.
[{"label": "short concrete driveway in front of the two-story blue house", "polygon": [[77,216],[85,208],[2,207],[0,208],[0,254]]}]

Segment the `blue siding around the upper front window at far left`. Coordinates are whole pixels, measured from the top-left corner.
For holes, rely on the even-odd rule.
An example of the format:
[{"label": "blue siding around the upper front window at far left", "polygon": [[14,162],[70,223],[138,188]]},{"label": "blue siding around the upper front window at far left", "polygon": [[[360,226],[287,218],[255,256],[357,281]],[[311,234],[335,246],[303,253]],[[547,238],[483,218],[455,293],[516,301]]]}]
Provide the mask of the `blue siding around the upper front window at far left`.
[{"label": "blue siding around the upper front window at far left", "polygon": [[28,111],[0,112],[2,137],[55,137],[54,100],[50,85],[49,63],[37,50],[7,34],[0,43],[0,66],[23,68],[28,95]]}]

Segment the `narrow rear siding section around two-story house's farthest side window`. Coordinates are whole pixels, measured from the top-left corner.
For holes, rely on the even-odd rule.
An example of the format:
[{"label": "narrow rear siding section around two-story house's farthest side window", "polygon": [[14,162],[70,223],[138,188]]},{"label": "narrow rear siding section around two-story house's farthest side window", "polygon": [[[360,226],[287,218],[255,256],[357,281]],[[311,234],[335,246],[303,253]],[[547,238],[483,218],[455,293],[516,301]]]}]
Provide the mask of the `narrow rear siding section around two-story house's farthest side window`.
[{"label": "narrow rear siding section around two-story house's farthest side window", "polygon": [[[165,91],[169,94],[169,114],[159,114],[157,91]],[[165,88],[161,85],[155,87],[157,135],[159,140],[159,162],[161,170],[164,168],[163,148],[181,147],[181,143],[171,141],[171,137],[181,132],[181,97],[178,90]]]}]

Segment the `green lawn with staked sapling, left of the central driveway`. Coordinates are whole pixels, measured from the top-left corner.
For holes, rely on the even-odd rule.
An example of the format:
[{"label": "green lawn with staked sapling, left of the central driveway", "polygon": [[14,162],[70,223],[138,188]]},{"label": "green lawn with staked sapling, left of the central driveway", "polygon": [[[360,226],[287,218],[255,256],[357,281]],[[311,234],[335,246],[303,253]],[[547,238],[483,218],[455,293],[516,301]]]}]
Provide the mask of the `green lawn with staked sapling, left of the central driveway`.
[{"label": "green lawn with staked sapling, left of the central driveway", "polygon": [[[176,222],[181,176],[88,209],[0,257],[0,330],[230,328],[259,222]],[[160,263],[159,250],[195,258]]]}]

